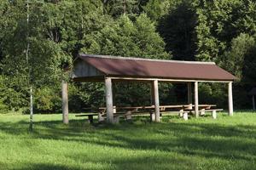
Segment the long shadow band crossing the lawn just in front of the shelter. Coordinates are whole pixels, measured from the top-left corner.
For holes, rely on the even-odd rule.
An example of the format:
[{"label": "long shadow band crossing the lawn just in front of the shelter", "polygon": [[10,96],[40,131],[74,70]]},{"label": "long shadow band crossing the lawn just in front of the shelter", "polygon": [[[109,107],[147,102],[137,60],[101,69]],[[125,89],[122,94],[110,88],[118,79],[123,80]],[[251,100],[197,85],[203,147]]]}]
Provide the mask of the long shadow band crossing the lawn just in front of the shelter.
[{"label": "long shadow band crossing the lawn just in front of the shelter", "polygon": [[[27,122],[3,122],[4,133],[27,133]],[[120,147],[131,150],[163,150],[186,156],[217,157],[252,161],[256,153],[256,127],[250,125],[224,126],[217,123],[122,122],[120,125],[89,125],[73,120],[69,125],[61,121],[35,122],[29,134],[35,139],[61,139],[86,144]]]}]

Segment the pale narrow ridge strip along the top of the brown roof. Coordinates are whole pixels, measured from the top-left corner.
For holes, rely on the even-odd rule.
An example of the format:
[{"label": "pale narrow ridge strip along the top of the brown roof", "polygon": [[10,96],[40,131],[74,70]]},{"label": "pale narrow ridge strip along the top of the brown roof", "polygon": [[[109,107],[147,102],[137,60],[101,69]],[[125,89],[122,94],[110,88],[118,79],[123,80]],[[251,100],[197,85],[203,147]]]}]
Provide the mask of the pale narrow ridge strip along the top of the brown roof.
[{"label": "pale narrow ridge strip along the top of the brown roof", "polygon": [[172,60],[172,59],[144,59],[144,58],[137,58],[137,57],[122,57],[122,56],[100,55],[100,54],[79,54],[79,56],[104,58],[104,59],[127,59],[127,60],[158,61],[158,62],[184,63],[184,64],[215,65],[214,62],[207,62],[207,61],[182,61],[182,60]]}]

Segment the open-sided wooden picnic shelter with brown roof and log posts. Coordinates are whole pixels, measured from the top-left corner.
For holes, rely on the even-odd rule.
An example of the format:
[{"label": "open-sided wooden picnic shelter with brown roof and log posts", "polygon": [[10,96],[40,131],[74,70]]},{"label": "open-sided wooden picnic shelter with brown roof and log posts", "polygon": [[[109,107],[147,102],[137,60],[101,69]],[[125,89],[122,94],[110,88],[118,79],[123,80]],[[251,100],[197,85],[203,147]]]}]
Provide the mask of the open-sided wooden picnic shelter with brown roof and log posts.
[{"label": "open-sided wooden picnic shelter with brown roof and log posts", "polygon": [[[229,115],[233,115],[232,82],[236,77],[213,62],[165,59],[125,58],[106,55],[79,54],[74,60],[73,81],[105,82],[107,122],[113,122],[113,82],[143,81],[152,84],[155,121],[160,122],[159,82],[188,84],[188,103],[192,104],[194,83],[195,116],[199,116],[198,82],[228,83]],[[67,84],[63,82],[63,119],[67,120]]]}]

